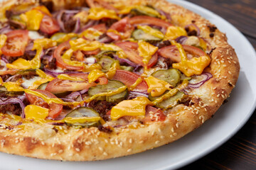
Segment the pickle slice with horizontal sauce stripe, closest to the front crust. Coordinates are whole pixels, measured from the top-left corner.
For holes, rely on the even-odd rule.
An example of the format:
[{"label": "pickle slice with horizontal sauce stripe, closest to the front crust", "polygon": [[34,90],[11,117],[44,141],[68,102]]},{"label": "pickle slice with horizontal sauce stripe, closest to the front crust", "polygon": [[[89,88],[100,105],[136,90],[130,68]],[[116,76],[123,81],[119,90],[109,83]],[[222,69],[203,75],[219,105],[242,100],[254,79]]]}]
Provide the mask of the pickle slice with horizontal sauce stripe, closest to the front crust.
[{"label": "pickle slice with horizontal sauce stripe, closest to the front crust", "polygon": [[[82,117],[100,117],[100,114],[97,113],[92,108],[80,107],[80,108],[76,108],[74,111],[71,111],[70,113],[68,113],[68,115],[65,116],[65,118],[82,118]],[[100,125],[99,121],[95,121],[95,122],[88,121],[85,123],[79,123],[79,122],[70,123],[65,119],[64,119],[64,121],[67,125],[75,126],[75,127],[89,128],[92,126]]]}]

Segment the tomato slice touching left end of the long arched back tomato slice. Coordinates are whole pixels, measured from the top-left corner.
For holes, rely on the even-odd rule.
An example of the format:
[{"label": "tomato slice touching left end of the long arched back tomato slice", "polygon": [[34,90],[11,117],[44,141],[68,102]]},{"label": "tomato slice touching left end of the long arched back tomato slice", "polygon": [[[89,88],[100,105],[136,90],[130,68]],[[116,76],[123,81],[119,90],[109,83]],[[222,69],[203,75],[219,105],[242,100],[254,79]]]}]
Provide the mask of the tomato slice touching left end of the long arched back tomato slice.
[{"label": "tomato slice touching left end of the long arched back tomato slice", "polygon": [[[116,23],[113,23],[112,26],[110,26],[110,30],[117,30],[117,32],[122,34],[123,38],[129,38],[132,35],[134,27],[129,23],[129,19],[126,17],[122,18],[122,20],[117,21]],[[113,40],[121,39],[120,35],[117,35],[114,32],[107,32],[107,36]]]}]

